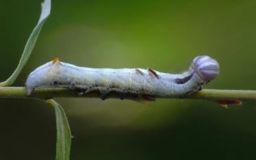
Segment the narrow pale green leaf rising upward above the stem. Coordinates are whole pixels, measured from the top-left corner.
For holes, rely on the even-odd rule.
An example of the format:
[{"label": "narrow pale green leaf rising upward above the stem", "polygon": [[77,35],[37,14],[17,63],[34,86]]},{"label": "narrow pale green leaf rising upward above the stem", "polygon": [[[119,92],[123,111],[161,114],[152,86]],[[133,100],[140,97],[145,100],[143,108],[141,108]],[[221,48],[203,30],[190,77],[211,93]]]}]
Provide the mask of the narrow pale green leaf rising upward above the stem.
[{"label": "narrow pale green leaf rising upward above the stem", "polygon": [[40,34],[40,30],[43,27],[43,23],[45,23],[50,12],[51,12],[51,0],[45,0],[42,3],[42,12],[40,14],[38,24],[36,25],[36,27],[34,27],[34,30],[32,31],[30,38],[27,40],[27,44],[25,45],[25,49],[23,51],[23,54],[21,55],[21,59],[19,61],[19,64],[18,64],[16,70],[14,70],[12,75],[6,81],[1,82],[0,86],[8,86],[8,85],[12,85],[12,83],[14,83],[14,81],[20,74],[21,70],[27,63],[27,59],[30,57],[32,50],[34,49],[34,46],[36,44],[38,35]]}]

